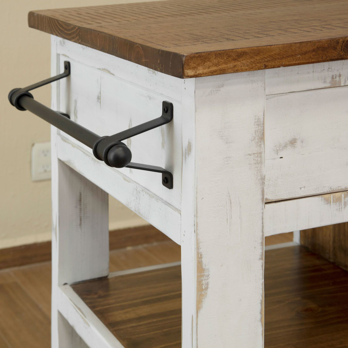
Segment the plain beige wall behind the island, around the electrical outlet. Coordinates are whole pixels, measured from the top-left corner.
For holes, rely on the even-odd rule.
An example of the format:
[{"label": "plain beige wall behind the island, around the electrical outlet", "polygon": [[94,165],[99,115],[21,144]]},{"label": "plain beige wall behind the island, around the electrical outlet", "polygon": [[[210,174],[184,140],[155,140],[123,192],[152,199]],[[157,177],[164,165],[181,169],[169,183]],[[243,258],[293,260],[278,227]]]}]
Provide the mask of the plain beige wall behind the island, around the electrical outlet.
[{"label": "plain beige wall behind the island, around the electrical outlet", "polygon": [[[50,35],[30,29],[30,10],[136,2],[117,0],[3,1],[0,12],[0,248],[50,239],[50,181],[31,181],[32,144],[49,140],[49,125],[8,102],[10,89],[50,75]],[[50,105],[50,87],[35,90],[35,98]],[[145,221],[110,199],[110,228],[139,226]]]}]

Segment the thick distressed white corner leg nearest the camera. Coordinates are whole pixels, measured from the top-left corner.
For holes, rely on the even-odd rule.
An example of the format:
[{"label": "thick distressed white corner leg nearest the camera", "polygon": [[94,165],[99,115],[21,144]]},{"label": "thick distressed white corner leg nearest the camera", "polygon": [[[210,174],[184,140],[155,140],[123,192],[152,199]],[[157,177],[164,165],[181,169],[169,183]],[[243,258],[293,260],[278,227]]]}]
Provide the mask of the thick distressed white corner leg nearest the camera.
[{"label": "thick distressed white corner leg nearest the camera", "polygon": [[182,347],[262,348],[264,72],[195,84],[182,132]]}]

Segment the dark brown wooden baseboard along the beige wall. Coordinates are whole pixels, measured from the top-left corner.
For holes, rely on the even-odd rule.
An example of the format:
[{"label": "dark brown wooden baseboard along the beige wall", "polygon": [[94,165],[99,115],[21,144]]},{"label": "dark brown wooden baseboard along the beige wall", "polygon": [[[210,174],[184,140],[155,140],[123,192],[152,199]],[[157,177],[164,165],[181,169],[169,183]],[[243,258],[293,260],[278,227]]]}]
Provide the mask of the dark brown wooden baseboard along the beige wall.
[{"label": "dark brown wooden baseboard along the beige wall", "polygon": [[[170,240],[151,225],[109,232],[110,250]],[[51,242],[0,249],[0,269],[51,260]]]}]

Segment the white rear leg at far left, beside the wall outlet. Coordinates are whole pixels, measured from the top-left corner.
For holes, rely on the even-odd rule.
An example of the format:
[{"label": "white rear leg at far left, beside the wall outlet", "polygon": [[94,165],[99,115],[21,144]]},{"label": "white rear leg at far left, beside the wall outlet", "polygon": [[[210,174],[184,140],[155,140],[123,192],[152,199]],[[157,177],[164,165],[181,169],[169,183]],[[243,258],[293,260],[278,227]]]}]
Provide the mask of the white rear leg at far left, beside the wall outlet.
[{"label": "white rear leg at far left, beside the wall outlet", "polygon": [[57,159],[52,127],[52,347],[85,348],[58,313],[57,288],[109,273],[108,195]]}]

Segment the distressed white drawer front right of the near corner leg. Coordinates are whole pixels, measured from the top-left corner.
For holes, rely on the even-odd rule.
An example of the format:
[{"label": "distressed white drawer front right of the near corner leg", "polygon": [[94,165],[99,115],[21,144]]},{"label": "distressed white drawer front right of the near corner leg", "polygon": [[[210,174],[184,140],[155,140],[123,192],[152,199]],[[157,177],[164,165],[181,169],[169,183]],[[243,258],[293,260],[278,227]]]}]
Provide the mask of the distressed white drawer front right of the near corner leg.
[{"label": "distressed white drawer front right of the near corner leg", "polygon": [[348,87],[266,97],[266,201],[348,189]]}]

